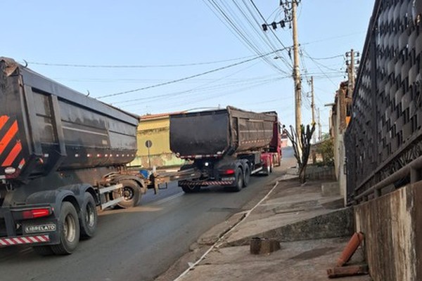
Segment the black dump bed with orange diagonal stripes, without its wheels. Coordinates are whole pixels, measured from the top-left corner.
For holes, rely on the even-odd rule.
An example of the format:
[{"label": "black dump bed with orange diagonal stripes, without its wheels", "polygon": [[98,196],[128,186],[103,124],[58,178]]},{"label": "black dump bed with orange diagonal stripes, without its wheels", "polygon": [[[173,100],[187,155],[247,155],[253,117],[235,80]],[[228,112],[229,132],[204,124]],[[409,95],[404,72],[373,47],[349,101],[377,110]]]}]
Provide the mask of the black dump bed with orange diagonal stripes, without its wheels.
[{"label": "black dump bed with orange diagonal stripes, without its wheels", "polygon": [[0,179],[126,164],[138,119],[0,58]]}]

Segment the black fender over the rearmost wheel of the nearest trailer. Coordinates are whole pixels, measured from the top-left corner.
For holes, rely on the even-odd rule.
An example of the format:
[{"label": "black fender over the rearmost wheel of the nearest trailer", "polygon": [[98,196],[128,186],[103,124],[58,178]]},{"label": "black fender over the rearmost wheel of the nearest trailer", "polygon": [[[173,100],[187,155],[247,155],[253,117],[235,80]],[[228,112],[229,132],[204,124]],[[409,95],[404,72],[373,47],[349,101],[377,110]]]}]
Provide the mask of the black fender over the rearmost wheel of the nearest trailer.
[{"label": "black fender over the rearmost wheel of the nearest trailer", "polygon": [[75,209],[79,209],[79,202],[77,202],[75,194],[70,190],[46,190],[32,193],[27,197],[25,204],[50,204],[53,207],[54,216],[60,214],[60,208],[63,201],[70,201],[76,204]]}]

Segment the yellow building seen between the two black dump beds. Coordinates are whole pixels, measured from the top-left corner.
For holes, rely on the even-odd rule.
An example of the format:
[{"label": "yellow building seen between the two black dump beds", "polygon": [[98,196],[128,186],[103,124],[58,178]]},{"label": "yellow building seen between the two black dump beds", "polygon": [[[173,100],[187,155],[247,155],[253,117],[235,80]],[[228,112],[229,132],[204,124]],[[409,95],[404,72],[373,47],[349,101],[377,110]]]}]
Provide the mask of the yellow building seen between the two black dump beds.
[{"label": "yellow building seen between the two black dump beds", "polygon": [[[138,150],[129,166],[146,168],[180,166],[184,160],[170,151],[170,115],[143,115],[139,118],[136,133]],[[148,148],[149,147],[149,148]]]}]

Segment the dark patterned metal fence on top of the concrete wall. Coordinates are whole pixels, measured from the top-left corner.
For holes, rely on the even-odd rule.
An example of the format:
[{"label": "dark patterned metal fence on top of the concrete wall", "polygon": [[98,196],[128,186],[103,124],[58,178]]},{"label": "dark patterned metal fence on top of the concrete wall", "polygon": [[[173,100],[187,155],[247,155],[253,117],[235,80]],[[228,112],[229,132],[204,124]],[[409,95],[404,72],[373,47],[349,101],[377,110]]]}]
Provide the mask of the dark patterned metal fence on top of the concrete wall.
[{"label": "dark patterned metal fence on top of the concrete wall", "polygon": [[421,179],[421,13],[421,0],[374,5],[345,133],[349,202]]}]

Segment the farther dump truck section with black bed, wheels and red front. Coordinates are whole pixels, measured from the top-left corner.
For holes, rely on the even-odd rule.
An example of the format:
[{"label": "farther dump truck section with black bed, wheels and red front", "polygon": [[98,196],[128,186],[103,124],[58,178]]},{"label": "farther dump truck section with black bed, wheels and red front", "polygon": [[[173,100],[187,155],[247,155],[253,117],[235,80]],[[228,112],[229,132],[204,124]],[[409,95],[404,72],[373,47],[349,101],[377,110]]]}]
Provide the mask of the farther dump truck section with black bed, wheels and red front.
[{"label": "farther dump truck section with black bed, wheels and red front", "polygon": [[276,112],[222,110],[170,116],[170,149],[191,164],[181,167],[198,177],[179,181],[184,192],[207,185],[240,191],[252,174],[269,175],[281,161],[280,125]]}]

